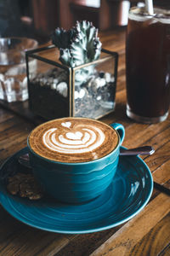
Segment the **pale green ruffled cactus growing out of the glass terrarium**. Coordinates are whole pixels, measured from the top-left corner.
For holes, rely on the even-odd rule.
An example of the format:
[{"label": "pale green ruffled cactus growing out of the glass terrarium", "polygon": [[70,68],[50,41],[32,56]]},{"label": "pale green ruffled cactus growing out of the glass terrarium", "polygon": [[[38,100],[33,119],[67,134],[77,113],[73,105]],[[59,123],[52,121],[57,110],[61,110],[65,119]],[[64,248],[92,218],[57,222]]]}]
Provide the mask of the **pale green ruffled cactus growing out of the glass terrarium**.
[{"label": "pale green ruffled cactus growing out of the glass terrarium", "polygon": [[[98,29],[86,20],[77,21],[76,26],[69,31],[57,28],[52,35],[52,42],[59,48],[59,61],[68,67],[98,60],[101,52]],[[75,85],[82,84],[93,73],[94,65],[78,69]]]}]

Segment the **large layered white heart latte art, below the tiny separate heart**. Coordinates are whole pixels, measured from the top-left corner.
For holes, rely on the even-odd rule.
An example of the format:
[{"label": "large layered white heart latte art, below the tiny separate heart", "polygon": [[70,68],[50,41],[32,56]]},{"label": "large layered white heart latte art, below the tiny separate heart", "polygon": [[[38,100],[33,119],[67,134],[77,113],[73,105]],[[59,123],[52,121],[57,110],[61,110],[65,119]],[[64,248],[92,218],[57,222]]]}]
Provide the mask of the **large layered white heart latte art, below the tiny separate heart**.
[{"label": "large layered white heart latte art, below the tiny separate heart", "polygon": [[43,134],[44,145],[50,150],[65,154],[82,154],[93,151],[105,141],[105,134],[98,127],[83,125],[81,131],[60,133],[57,128],[51,128]]}]

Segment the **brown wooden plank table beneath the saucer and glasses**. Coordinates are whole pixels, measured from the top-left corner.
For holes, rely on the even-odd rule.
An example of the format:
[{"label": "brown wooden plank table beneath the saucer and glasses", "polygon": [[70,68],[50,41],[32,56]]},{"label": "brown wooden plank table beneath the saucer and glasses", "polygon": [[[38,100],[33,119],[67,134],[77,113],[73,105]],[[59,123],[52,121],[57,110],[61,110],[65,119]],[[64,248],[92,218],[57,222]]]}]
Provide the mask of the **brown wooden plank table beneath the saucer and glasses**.
[{"label": "brown wooden plank table beneath the saucer and glasses", "polygon": [[[133,148],[148,144],[156,149],[155,154],[143,157],[155,181],[150,201],[127,223],[85,235],[60,235],[37,230],[20,223],[0,207],[0,255],[170,255],[170,119],[156,125],[127,119],[125,33],[102,32],[100,39],[105,49],[119,53],[116,111],[102,121],[107,124],[119,122],[126,127],[123,146]],[[26,147],[29,132],[42,121],[32,117],[26,108],[27,102],[10,106],[1,104],[0,163]],[[167,190],[162,192],[162,188]]]}]

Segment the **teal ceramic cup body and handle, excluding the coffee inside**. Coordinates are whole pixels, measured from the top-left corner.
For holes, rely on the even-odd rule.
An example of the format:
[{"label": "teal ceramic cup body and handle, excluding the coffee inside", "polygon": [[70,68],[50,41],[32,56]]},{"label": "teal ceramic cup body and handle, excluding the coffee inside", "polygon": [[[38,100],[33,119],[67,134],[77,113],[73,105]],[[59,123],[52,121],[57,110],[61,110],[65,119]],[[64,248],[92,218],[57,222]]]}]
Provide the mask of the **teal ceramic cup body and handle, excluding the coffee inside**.
[{"label": "teal ceramic cup body and handle, excluding the coffee inside", "polygon": [[66,203],[91,201],[101,195],[111,184],[116,173],[120,146],[125,136],[121,124],[111,124],[116,130],[116,148],[104,157],[81,163],[62,163],[48,160],[31,150],[30,162],[37,181],[48,195]]}]

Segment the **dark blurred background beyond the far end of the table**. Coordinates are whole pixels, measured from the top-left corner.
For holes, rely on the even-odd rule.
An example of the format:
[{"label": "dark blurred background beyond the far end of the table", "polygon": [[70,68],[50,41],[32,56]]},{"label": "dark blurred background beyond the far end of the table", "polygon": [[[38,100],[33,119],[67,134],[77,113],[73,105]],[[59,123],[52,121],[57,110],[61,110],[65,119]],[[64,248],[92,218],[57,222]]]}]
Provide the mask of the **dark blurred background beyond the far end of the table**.
[{"label": "dark blurred background beyond the far end of the table", "polygon": [[[0,37],[20,36],[48,42],[56,27],[89,20],[100,31],[127,26],[128,9],[139,0],[0,0]],[[154,4],[170,7],[169,0]]]}]

